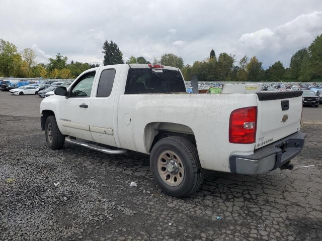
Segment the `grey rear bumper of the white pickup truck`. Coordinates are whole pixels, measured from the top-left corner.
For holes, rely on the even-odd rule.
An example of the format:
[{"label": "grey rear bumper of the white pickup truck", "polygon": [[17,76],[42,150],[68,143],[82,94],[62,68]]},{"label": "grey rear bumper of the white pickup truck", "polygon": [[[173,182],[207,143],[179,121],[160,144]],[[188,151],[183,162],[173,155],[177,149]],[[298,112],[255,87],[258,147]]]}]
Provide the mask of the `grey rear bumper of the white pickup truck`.
[{"label": "grey rear bumper of the white pickup truck", "polygon": [[230,172],[251,175],[281,167],[301,152],[305,138],[306,134],[299,132],[255,150],[252,155],[231,155]]}]

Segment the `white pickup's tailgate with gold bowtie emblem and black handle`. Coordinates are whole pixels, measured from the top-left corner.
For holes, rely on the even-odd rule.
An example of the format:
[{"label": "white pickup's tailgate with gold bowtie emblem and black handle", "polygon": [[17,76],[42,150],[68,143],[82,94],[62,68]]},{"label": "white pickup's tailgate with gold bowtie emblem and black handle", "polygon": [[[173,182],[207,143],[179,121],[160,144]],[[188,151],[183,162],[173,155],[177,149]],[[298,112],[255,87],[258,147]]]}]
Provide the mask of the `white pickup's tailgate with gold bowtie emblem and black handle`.
[{"label": "white pickup's tailgate with gold bowtie emblem and black handle", "polygon": [[257,97],[255,149],[300,130],[302,91],[261,92]]}]

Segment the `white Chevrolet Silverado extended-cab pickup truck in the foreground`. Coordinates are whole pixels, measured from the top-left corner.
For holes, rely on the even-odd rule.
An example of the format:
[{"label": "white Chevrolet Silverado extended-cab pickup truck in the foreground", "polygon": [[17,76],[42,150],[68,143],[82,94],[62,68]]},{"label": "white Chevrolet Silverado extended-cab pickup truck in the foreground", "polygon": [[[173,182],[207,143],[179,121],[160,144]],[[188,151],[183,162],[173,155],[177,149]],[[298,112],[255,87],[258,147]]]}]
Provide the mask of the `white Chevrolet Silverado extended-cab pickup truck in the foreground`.
[{"label": "white Chevrolet Silverado extended-cab pickup truck in the foreground", "polygon": [[110,65],[89,69],[46,97],[41,127],[51,149],[68,142],[107,154],[149,154],[160,188],[184,197],[200,187],[204,169],[292,169],[306,137],[301,95],[189,94],[178,68]]}]

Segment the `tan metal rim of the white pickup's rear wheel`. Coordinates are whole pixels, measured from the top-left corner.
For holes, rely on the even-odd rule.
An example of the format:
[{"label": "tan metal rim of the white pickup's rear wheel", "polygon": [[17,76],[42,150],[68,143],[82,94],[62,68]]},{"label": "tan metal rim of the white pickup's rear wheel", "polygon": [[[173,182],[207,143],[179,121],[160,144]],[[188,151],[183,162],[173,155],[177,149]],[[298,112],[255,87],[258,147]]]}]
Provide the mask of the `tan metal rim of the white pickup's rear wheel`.
[{"label": "tan metal rim of the white pickup's rear wheel", "polygon": [[157,159],[157,172],[162,180],[170,186],[178,186],[185,176],[181,158],[175,152],[167,150]]}]

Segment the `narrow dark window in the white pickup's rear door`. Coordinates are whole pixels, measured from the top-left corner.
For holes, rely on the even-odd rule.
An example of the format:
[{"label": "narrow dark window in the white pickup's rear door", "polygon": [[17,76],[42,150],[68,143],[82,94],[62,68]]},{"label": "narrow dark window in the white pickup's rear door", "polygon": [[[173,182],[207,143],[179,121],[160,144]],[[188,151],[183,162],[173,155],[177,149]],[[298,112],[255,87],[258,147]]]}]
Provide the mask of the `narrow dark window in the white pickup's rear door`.
[{"label": "narrow dark window in the white pickup's rear door", "polygon": [[115,69],[105,69],[102,71],[96,97],[110,96],[113,88]]}]

